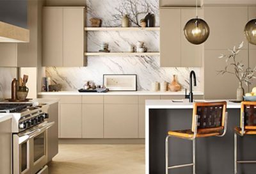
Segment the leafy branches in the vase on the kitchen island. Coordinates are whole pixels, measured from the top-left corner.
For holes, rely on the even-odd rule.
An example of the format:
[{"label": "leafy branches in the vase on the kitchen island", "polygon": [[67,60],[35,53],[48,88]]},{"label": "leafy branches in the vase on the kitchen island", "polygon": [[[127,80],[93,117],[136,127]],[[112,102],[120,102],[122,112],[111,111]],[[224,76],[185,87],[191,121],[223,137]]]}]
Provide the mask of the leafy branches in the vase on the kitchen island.
[{"label": "leafy branches in the vase on the kitchen island", "polygon": [[[230,51],[229,55],[221,54],[221,56],[218,57],[220,59],[225,58],[226,61],[224,70],[219,70],[218,74],[234,74],[240,83],[245,83],[247,86],[250,86],[253,79],[256,79],[256,67],[253,69],[250,67],[245,68],[241,61],[236,60],[236,56],[243,48],[243,45],[244,43],[242,42],[237,49],[236,46],[234,46],[233,50],[228,49],[228,51]],[[234,68],[234,72],[229,70],[230,67]]]}]

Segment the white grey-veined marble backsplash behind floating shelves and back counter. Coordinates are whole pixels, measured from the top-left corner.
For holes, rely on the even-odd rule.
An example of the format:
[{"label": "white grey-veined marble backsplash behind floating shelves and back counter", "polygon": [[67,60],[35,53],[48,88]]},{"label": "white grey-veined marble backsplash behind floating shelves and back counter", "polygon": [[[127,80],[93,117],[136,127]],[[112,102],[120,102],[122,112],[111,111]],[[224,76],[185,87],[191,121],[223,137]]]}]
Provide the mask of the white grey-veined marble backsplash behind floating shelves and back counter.
[{"label": "white grey-veined marble backsplash behind floating shelves and back counter", "polygon": [[[102,19],[102,26],[120,26],[122,15],[132,12],[127,6],[134,4],[136,12],[154,13],[156,26],[159,26],[159,0],[86,0],[87,26],[90,26],[92,17]],[[139,15],[138,20],[145,15]],[[136,26],[134,23],[131,25]],[[148,51],[159,52],[159,31],[88,31],[87,52],[99,51],[102,42],[109,43],[111,52],[126,52],[129,45],[138,41],[145,42]],[[87,59],[87,67],[47,67],[45,73],[53,83],[62,84],[65,91],[83,88],[84,81],[102,84],[103,74],[137,74],[138,90],[151,90],[153,82],[170,82],[174,74],[183,88],[189,88],[189,72],[195,70],[198,86],[194,89],[200,90],[200,68],[161,68],[159,56],[88,56]]]}]

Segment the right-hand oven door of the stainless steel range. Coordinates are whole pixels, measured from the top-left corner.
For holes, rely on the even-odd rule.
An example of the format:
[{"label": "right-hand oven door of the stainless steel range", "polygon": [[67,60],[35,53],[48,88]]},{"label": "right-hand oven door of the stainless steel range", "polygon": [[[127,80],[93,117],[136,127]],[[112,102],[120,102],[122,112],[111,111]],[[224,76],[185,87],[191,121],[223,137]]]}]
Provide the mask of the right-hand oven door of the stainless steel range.
[{"label": "right-hand oven door of the stainless steel range", "polygon": [[33,135],[29,141],[31,146],[31,165],[32,173],[36,173],[47,164],[48,158],[48,129],[54,124],[54,122],[47,123],[38,128],[38,132]]}]

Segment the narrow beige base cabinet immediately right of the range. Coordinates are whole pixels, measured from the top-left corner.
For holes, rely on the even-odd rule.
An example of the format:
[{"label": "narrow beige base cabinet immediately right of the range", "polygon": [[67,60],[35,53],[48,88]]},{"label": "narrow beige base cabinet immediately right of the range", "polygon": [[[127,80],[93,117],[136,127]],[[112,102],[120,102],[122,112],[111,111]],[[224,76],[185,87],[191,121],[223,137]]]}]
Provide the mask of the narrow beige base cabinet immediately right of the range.
[{"label": "narrow beige base cabinet immediately right of the range", "polygon": [[49,113],[49,122],[54,122],[54,125],[48,130],[48,162],[52,161],[52,158],[59,152],[59,104],[58,102],[51,104],[47,112]]}]

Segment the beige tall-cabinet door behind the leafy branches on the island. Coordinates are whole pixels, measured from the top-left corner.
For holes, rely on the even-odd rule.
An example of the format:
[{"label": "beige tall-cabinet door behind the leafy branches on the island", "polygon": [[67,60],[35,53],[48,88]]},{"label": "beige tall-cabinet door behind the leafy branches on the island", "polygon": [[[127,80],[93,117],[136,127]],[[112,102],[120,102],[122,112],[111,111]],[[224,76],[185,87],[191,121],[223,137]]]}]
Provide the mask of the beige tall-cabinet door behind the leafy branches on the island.
[{"label": "beige tall-cabinet door behind the leafy branches on the island", "polygon": [[[205,76],[204,89],[205,99],[236,99],[236,90],[239,86],[237,77],[233,74],[218,75],[218,70],[223,70],[226,66],[225,59],[219,59],[220,54],[229,54],[228,51],[205,51]],[[243,61],[248,65],[248,52],[243,50],[239,52],[237,61]],[[234,68],[230,67],[234,72]],[[244,91],[248,88],[244,85]]]}]

